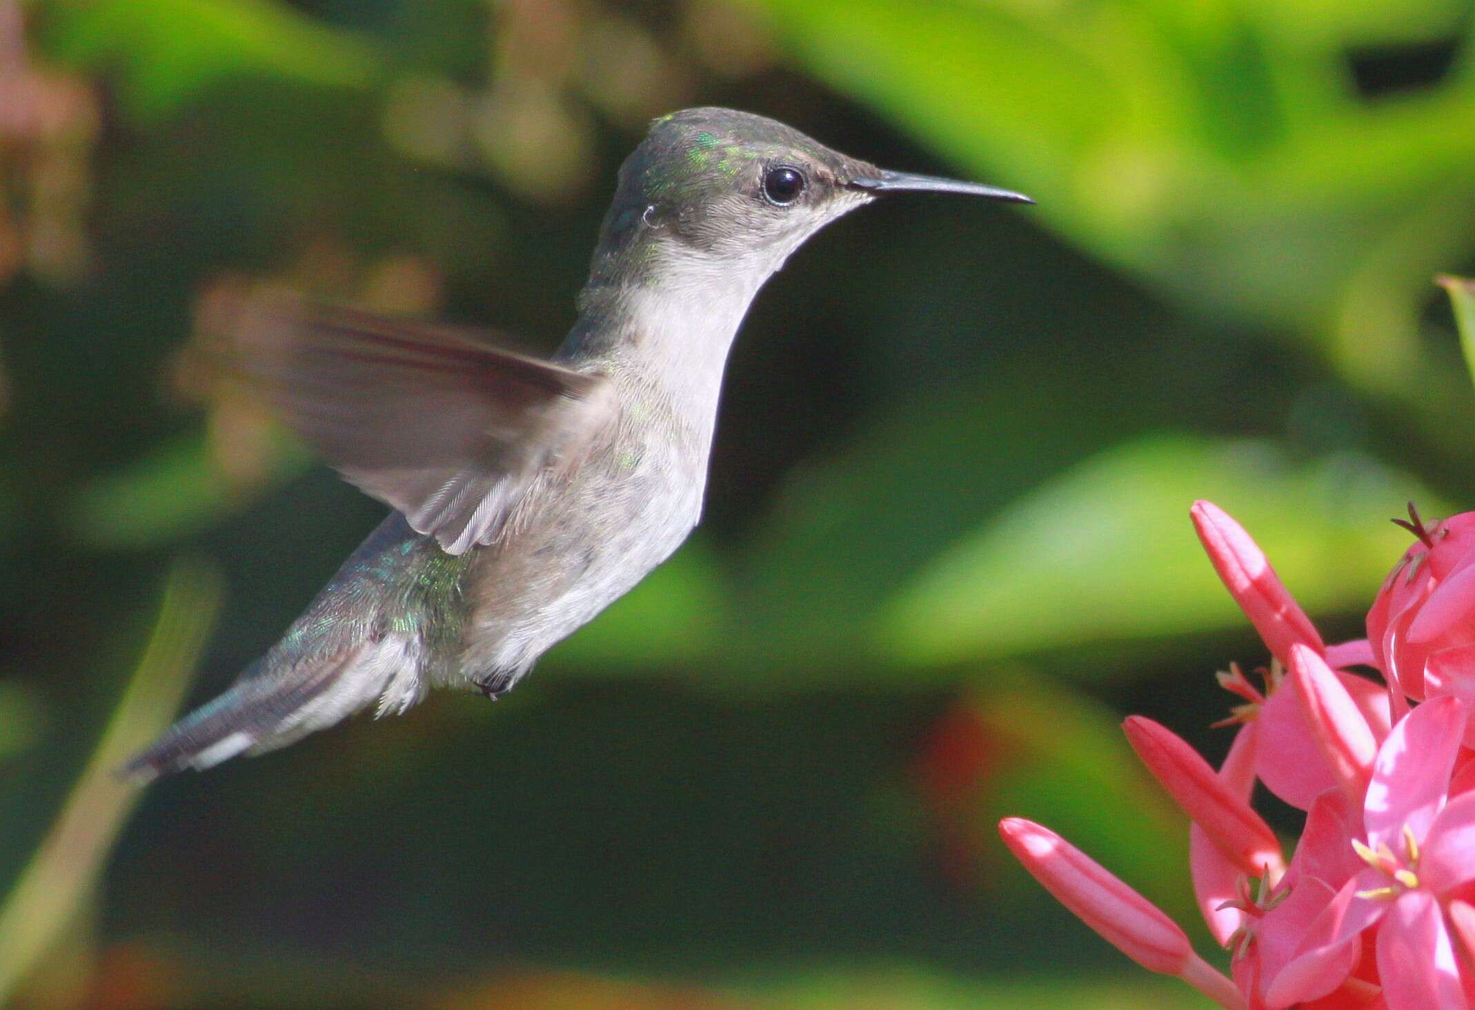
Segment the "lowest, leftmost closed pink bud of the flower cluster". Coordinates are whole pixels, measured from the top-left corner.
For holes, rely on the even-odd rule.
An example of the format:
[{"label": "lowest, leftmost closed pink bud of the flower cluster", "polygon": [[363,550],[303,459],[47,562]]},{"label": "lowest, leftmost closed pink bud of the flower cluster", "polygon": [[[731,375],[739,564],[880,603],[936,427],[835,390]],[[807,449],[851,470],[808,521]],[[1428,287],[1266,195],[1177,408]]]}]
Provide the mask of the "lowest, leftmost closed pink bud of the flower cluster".
[{"label": "lowest, leftmost closed pink bud of the flower cluster", "polygon": [[1179,975],[1193,955],[1177,923],[1050,829],[1007,817],[999,835],[1056,901],[1142,967]]}]

